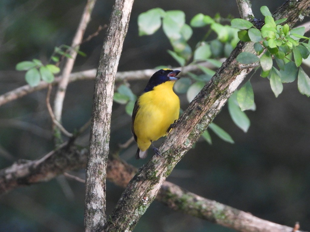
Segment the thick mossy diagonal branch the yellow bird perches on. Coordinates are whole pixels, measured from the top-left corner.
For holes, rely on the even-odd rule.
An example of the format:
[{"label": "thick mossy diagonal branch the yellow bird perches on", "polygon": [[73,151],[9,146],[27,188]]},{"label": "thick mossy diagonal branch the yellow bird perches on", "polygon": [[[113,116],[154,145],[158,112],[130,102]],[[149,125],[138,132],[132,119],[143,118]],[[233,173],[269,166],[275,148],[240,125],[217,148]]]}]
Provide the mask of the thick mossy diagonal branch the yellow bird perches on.
[{"label": "thick mossy diagonal branch the yellow bird perches on", "polygon": [[[286,15],[288,23],[292,26],[297,20],[296,15],[306,11],[309,3],[310,0],[288,1],[277,10],[275,18],[279,19]],[[290,14],[286,14],[288,10]],[[252,70],[240,69],[235,58],[241,51],[254,53],[253,44],[239,43],[231,56],[194,98],[180,117],[175,129],[170,132],[160,147],[163,157],[153,156],[131,179],[113,210],[110,220],[106,223],[104,231],[133,230],[139,218],[155,199],[166,177]],[[148,199],[147,202],[144,201],[145,198]]]}]

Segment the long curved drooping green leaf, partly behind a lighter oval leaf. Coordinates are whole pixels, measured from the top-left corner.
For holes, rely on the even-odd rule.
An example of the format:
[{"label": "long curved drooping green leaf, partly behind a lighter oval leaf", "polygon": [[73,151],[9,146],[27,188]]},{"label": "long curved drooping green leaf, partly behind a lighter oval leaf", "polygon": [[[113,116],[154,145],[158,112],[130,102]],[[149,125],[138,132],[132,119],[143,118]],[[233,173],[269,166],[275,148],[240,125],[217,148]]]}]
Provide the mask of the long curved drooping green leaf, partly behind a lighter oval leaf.
[{"label": "long curved drooping green leaf, partly behind a lighter oval leaf", "polygon": [[238,105],[237,92],[234,92],[228,99],[228,112],[237,127],[239,127],[242,131],[247,132],[250,127],[250,119],[243,111],[241,111]]}]

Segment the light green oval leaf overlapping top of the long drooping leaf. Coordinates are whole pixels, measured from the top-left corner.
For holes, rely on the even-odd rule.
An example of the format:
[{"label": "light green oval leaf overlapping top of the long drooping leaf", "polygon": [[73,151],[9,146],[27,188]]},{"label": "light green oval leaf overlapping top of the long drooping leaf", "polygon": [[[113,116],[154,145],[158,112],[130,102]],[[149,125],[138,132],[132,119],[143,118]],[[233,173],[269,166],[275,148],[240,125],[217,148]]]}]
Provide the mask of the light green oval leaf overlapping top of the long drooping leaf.
[{"label": "light green oval leaf overlapping top of the long drooping leaf", "polygon": [[249,80],[239,89],[237,101],[242,111],[251,109],[254,104],[254,92]]}]

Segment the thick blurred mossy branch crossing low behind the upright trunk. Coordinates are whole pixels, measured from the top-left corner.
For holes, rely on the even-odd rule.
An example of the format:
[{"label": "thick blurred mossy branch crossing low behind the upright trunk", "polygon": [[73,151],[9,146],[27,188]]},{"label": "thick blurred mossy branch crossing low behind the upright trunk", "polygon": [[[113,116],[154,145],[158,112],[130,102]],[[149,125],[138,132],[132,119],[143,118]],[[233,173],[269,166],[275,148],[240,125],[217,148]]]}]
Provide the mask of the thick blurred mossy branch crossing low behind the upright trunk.
[{"label": "thick blurred mossy branch crossing low behind the upright trunk", "polygon": [[[63,144],[39,160],[15,163],[0,170],[0,193],[16,187],[49,181],[56,175],[85,168],[87,150]],[[65,161],[65,162],[64,162]],[[57,164],[57,165],[56,165]],[[108,160],[107,179],[126,187],[137,169],[119,158]],[[81,181],[81,180],[79,180]],[[156,199],[168,207],[243,232],[291,232],[293,228],[257,218],[250,213],[191,193],[165,181]]]}]

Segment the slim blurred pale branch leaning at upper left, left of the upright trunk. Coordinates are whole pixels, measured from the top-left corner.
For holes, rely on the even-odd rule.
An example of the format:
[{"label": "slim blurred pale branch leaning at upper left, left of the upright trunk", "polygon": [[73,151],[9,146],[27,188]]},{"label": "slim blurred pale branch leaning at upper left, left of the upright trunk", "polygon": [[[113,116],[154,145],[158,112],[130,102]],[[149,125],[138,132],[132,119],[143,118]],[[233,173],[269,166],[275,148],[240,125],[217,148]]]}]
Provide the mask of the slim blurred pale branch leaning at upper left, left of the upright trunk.
[{"label": "slim blurred pale branch leaning at upper left, left of the upright trunk", "polygon": [[64,104],[64,96],[66,94],[66,89],[69,83],[70,73],[73,69],[75,58],[77,57],[79,45],[82,42],[84,32],[86,30],[86,27],[89,21],[91,20],[91,12],[95,6],[95,2],[96,0],[87,0],[80,24],[78,26],[78,29],[72,41],[71,49],[69,52],[69,55],[71,56],[71,58],[67,59],[67,62],[64,65],[64,69],[62,71],[62,78],[60,79],[57,93],[55,96],[55,101],[54,101],[54,115],[55,115],[55,120],[58,122],[61,121],[61,113],[62,113],[62,107]]}]

